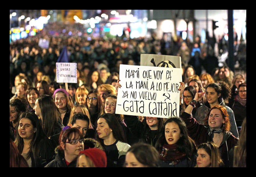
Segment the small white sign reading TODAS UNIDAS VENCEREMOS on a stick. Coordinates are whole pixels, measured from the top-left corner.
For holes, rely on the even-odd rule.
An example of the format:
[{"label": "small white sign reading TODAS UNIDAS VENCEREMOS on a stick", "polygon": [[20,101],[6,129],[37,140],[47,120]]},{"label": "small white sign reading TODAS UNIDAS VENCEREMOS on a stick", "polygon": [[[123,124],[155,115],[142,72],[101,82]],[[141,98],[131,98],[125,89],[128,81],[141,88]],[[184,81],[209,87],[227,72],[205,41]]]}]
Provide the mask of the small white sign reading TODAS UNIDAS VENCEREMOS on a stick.
[{"label": "small white sign reading TODAS UNIDAS VENCEREMOS on a stick", "polygon": [[77,63],[56,63],[57,82],[77,83]]}]

